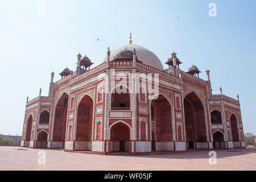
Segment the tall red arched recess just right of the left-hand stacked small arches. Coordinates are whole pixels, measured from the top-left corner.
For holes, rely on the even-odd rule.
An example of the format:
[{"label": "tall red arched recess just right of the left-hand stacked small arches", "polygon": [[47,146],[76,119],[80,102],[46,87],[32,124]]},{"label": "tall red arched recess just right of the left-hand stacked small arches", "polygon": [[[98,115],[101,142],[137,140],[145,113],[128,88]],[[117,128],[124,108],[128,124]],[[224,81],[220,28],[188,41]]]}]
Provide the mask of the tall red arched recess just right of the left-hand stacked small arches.
[{"label": "tall red arched recess just right of the left-hand stacked small arches", "polygon": [[52,148],[65,148],[68,94],[63,93],[55,108]]}]

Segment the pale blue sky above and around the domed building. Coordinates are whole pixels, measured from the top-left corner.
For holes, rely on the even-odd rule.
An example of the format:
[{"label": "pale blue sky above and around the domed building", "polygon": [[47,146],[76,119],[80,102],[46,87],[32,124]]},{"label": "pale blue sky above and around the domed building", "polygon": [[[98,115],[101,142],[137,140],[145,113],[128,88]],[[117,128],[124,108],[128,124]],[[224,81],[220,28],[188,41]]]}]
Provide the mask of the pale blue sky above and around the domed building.
[{"label": "pale blue sky above and around the domed building", "polygon": [[[209,17],[209,3],[217,17]],[[56,81],[64,68],[75,70],[79,52],[97,65],[131,31],[133,43],[163,64],[175,51],[184,71],[195,64],[205,79],[209,69],[213,93],[222,86],[227,96],[239,94],[244,130],[256,134],[255,7],[254,0],[1,1],[0,133],[22,133],[26,98],[40,87],[47,96],[52,71]]]}]

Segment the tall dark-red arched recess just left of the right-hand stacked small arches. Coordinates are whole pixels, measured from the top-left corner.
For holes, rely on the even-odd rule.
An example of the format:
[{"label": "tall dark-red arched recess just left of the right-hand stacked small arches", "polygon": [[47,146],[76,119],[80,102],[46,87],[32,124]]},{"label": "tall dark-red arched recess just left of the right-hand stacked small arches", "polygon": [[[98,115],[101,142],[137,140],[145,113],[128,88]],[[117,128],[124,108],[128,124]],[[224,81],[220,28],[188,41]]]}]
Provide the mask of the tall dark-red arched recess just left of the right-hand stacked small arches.
[{"label": "tall dark-red arched recess just left of the right-hand stacked small arches", "polygon": [[204,107],[195,92],[184,98],[187,148],[208,148]]}]

